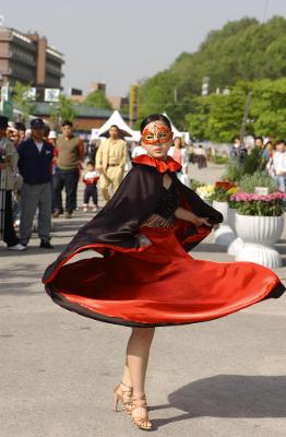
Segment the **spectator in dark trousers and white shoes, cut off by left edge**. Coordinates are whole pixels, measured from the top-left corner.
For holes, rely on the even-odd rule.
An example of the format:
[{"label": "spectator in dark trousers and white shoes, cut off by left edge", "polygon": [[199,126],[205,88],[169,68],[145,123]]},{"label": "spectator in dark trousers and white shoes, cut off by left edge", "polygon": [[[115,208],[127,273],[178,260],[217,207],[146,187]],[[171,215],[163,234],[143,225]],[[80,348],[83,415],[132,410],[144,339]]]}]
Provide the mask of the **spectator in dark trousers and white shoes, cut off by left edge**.
[{"label": "spectator in dark trousers and white shoes, cut off by left edge", "polygon": [[22,251],[12,217],[13,175],[17,163],[14,144],[7,138],[8,118],[0,116],[0,233],[8,249]]}]

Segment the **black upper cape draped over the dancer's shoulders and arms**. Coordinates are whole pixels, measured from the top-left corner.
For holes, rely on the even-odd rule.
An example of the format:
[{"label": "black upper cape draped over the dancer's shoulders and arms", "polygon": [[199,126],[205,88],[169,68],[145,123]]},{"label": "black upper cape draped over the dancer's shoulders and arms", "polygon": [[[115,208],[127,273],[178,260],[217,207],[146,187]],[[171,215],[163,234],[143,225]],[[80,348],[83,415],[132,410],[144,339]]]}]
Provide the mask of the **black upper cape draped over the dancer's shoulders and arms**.
[{"label": "black upper cape draped over the dancer's shoulders and arms", "polygon": [[[207,217],[212,224],[223,222],[223,215],[181,184],[175,172],[169,175],[176,184],[180,206],[198,216]],[[94,249],[105,256],[109,250],[139,250],[140,226],[155,211],[163,177],[164,173],[153,166],[134,164],[106,206],[79,231],[58,259],[47,268],[43,282],[49,283],[68,260],[83,250]],[[176,235],[184,250],[189,251],[211,229],[177,220]]]}]

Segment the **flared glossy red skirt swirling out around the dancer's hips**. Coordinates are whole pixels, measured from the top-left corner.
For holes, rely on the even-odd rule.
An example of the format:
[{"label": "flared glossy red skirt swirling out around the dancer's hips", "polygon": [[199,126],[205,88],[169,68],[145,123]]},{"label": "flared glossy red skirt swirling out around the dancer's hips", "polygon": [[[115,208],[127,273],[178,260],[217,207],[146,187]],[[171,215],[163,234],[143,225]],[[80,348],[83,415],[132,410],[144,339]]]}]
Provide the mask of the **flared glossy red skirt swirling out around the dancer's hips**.
[{"label": "flared glossy red skirt swirling out around the dancer's hips", "polygon": [[[47,286],[51,297],[95,319],[160,326],[215,319],[283,293],[279,279],[262,265],[195,260],[174,229],[142,232],[152,241],[145,250],[62,267]],[[278,295],[271,296],[275,288]]]}]

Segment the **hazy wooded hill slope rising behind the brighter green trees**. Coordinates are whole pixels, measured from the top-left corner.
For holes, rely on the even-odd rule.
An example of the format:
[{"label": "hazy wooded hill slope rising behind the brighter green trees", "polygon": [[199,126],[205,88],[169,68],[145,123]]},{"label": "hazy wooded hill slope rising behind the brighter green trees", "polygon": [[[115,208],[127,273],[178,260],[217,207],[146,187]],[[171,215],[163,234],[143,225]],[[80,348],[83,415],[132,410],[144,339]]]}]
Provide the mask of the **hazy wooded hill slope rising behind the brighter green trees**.
[{"label": "hazy wooded hill slope rising behind the brighter green trees", "polygon": [[168,69],[142,82],[140,118],[166,110],[183,128],[186,115],[198,106],[194,97],[201,95],[203,76],[210,76],[211,94],[241,80],[286,76],[286,19],[274,16],[259,23],[245,17],[210,32],[198,51],[182,52]]}]

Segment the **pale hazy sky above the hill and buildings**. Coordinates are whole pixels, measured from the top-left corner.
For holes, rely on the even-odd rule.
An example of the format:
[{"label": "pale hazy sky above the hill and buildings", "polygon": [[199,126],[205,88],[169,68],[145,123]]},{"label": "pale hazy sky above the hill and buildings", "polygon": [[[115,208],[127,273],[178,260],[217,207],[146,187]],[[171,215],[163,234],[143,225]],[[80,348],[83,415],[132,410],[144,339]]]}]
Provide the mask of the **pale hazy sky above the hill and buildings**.
[{"label": "pale hazy sky above the hill and buildings", "polygon": [[[2,3],[2,4],[1,4]],[[210,31],[243,16],[286,17],[286,0],[9,0],[4,26],[45,35],[64,54],[62,85],[88,92],[105,82],[107,95],[167,69],[195,51]]]}]

